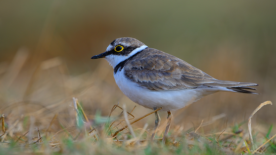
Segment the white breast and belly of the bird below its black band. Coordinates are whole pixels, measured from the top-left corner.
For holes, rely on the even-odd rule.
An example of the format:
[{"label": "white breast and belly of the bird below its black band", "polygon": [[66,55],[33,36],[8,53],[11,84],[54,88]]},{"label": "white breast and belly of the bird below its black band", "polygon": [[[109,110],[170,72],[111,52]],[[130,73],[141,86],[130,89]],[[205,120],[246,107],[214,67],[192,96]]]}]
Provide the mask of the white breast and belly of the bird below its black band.
[{"label": "white breast and belly of the bird below its black band", "polygon": [[150,90],[128,80],[124,75],[124,68],[118,70],[114,78],[118,87],[130,100],[149,109],[162,107],[162,111],[184,108],[204,96],[217,92],[212,88]]}]

